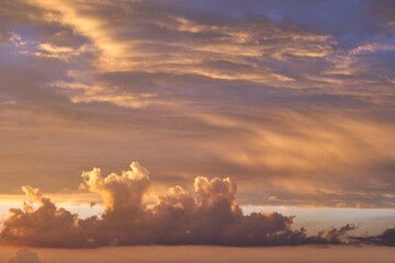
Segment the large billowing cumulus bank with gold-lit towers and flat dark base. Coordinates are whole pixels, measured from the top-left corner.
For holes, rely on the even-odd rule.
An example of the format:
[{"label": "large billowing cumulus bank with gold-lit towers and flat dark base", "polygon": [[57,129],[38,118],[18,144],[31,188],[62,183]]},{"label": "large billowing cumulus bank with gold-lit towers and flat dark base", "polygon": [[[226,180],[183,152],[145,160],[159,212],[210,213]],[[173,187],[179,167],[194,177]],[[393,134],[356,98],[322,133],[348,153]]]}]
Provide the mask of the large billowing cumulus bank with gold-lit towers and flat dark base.
[{"label": "large billowing cumulus bank with gold-lit towers and flat dark base", "polygon": [[[354,227],[331,229],[324,236],[292,230],[294,216],[279,213],[244,215],[236,201],[236,184],[229,179],[199,176],[195,197],[181,186],[148,206],[148,171],[137,162],[121,175],[103,178],[101,170],[82,172],[82,188],[103,196],[105,211],[99,218],[80,219],[57,208],[38,188],[24,186],[30,202],[11,208],[0,233],[2,244],[31,247],[101,247],[136,244],[297,245],[342,243]],[[34,203],[38,207],[34,207]]]}]

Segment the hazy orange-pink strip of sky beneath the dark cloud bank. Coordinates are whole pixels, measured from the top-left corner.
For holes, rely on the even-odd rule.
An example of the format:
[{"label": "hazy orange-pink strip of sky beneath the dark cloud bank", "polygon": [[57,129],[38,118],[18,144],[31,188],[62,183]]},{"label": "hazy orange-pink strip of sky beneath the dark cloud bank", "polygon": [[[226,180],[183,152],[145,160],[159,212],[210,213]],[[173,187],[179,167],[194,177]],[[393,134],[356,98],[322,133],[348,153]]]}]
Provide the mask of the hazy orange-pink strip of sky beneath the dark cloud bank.
[{"label": "hazy orange-pink strip of sky beneath the dark cloud bank", "polygon": [[[0,262],[16,259],[18,263],[393,263],[393,248],[219,248],[219,247],[134,247],[97,250],[35,249],[26,251],[0,248]],[[34,261],[38,259],[38,261]],[[30,260],[30,261],[27,261]]]}]

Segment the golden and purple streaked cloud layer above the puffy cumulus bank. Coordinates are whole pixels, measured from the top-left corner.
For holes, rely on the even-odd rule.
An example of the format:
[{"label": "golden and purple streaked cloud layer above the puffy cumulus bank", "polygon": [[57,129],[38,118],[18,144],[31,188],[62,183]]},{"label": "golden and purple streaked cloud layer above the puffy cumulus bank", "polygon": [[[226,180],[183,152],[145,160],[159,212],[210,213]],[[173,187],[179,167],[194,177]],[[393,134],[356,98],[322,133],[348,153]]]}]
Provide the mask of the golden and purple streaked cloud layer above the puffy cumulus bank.
[{"label": "golden and purple streaked cloud layer above the puffy cumulus bank", "polygon": [[394,208],[392,1],[1,4],[2,193],[138,160],[157,194]]}]

